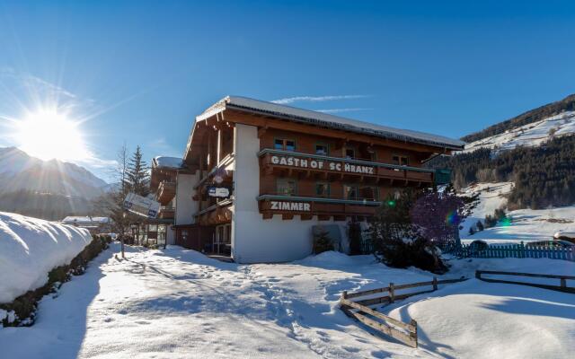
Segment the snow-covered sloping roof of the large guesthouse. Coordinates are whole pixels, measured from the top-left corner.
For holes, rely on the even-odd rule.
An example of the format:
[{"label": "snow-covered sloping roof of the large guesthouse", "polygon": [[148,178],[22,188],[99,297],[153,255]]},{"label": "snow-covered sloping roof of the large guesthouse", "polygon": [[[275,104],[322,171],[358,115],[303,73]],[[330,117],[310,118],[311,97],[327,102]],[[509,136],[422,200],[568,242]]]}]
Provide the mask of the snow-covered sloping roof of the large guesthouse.
[{"label": "snow-covered sloping roof of the large guesthouse", "polygon": [[287,118],[296,122],[311,123],[325,127],[332,127],[341,130],[363,133],[371,136],[380,136],[401,141],[410,141],[420,144],[438,145],[449,149],[461,150],[464,142],[446,136],[431,135],[424,132],[413,131],[409,129],[386,127],[369,122],[359,121],[351,118],[341,118],[323,112],[317,112],[310,109],[298,109],[291,106],[280,105],[278,103],[254,100],[241,96],[227,96],[218,101],[204,113],[199,115],[198,119],[204,119],[212,116],[221,109],[243,109],[259,113],[270,114],[275,117]]}]

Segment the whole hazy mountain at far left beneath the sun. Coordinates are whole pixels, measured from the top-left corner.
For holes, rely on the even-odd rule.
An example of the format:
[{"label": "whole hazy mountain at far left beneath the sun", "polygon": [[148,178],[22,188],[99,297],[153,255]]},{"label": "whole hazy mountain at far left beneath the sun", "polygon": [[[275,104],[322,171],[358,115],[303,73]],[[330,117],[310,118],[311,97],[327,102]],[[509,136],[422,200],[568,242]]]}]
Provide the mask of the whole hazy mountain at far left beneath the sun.
[{"label": "whole hazy mountain at far left beneath the sun", "polygon": [[42,161],[15,148],[0,148],[0,211],[49,220],[88,215],[108,184],[74,163]]}]

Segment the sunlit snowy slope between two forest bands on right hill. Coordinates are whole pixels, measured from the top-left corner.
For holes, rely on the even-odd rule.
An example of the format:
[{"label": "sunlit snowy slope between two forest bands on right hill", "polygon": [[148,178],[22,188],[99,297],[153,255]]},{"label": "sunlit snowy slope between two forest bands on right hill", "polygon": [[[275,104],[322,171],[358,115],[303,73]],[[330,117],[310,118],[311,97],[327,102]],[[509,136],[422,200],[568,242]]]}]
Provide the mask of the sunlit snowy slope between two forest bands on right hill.
[{"label": "sunlit snowy slope between two forest bands on right hill", "polygon": [[515,127],[502,134],[485,137],[465,145],[464,152],[473,152],[480,148],[505,151],[517,146],[537,146],[553,136],[565,136],[575,133],[575,111],[562,112],[549,118]]}]

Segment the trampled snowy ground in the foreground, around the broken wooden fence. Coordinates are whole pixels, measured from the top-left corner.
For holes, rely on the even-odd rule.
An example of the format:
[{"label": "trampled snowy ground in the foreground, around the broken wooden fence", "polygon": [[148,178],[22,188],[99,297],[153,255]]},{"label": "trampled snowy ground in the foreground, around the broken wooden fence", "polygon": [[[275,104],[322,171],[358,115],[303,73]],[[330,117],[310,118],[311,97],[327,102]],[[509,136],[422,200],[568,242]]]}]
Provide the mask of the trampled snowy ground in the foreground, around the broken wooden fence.
[{"label": "trampled snowy ground in the foreground, around the broken wooden fence", "polygon": [[[84,276],[40,302],[31,328],[0,328],[6,358],[568,358],[575,295],[470,279],[383,311],[420,325],[420,348],[370,335],[337,306],[342,290],[429,280],[370,256],[326,252],[288,264],[236,265],[198,252],[102,252]],[[452,260],[477,268],[573,274],[551,259]],[[569,283],[569,285],[575,285]]]}]

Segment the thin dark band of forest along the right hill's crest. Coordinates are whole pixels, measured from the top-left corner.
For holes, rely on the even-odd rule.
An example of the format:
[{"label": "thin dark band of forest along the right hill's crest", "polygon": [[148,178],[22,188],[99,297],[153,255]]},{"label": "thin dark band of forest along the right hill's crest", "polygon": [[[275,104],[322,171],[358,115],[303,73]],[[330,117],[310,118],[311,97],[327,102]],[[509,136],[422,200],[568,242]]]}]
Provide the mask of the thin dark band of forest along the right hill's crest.
[{"label": "thin dark band of forest along the right hill's crest", "polygon": [[502,134],[505,131],[512,128],[525,126],[530,123],[540,121],[544,118],[549,118],[554,115],[558,115],[564,111],[573,111],[573,110],[575,110],[575,94],[567,96],[562,101],[555,101],[552,103],[548,103],[544,106],[538,107],[536,109],[531,109],[515,118],[510,118],[506,121],[487,127],[482,131],[464,136],[461,139],[467,143],[481,140],[482,138],[485,137]]}]

